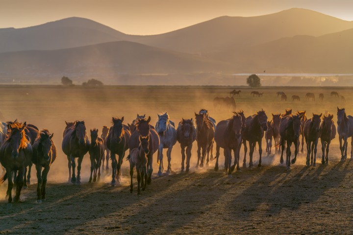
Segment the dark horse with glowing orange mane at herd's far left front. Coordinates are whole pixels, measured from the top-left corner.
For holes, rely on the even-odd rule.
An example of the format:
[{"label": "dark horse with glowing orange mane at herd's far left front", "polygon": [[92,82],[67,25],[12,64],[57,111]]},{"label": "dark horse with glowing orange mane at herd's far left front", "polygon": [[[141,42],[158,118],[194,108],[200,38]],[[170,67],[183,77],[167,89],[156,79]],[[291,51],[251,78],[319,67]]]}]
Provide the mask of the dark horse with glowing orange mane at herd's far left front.
[{"label": "dark horse with glowing orange mane at herd's far left front", "polygon": [[7,179],[8,202],[12,202],[12,171],[18,170],[16,177],[16,195],[14,202],[20,200],[21,189],[24,186],[26,167],[32,164],[32,146],[25,134],[26,123],[14,122],[9,124],[10,133],[0,147],[0,163],[6,172],[0,176],[0,185]]}]

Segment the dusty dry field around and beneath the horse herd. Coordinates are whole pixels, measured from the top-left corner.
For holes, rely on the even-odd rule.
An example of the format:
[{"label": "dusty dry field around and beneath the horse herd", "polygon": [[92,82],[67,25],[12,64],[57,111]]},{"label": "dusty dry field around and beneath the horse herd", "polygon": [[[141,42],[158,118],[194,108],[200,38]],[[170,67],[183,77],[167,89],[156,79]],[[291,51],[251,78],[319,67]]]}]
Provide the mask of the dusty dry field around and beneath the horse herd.
[{"label": "dusty dry field around and beneath the horse herd", "polygon": [[[222,170],[213,171],[214,162],[208,168],[195,168],[194,143],[191,171],[180,174],[177,143],[172,151],[176,173],[157,177],[155,154],[152,183],[139,196],[136,174],[136,187],[132,194],[129,192],[126,161],[120,186],[110,186],[110,174],[104,174],[100,183],[87,183],[88,154],[83,160],[82,184],[67,183],[67,159],[61,151],[64,120],[85,120],[88,133],[91,128],[99,128],[101,133],[112,116],[124,116],[130,122],[137,113],[146,114],[154,124],[157,113],[168,111],[177,122],[206,108],[219,121],[229,118],[231,110],[213,107],[212,100],[227,96],[232,89],[1,86],[0,112],[5,120],[18,118],[40,129],[48,128],[54,133],[58,157],[48,176],[46,202],[36,203],[35,170],[32,185],[22,191],[21,203],[9,207],[5,200],[7,183],[0,187],[0,234],[353,234],[353,161],[339,160],[338,135],[331,144],[329,165],[320,164],[319,144],[316,167],[304,165],[306,151],[289,171],[279,164],[278,155],[264,154],[261,169],[242,169],[228,178]],[[335,115],[337,106],[353,114],[351,88],[257,89],[264,92],[262,98],[252,97],[253,89],[239,89],[242,93],[236,97],[237,109],[243,109],[246,116],[261,108],[269,118],[271,112],[283,112],[285,108],[306,110],[308,117],[325,110]],[[277,91],[284,91],[288,101],[281,102]],[[347,102],[329,97],[331,91],[344,95]],[[307,92],[313,92],[317,101],[305,101]],[[319,93],[325,94],[325,102],[318,101]],[[302,101],[292,102],[293,94]],[[223,160],[221,154],[221,168]],[[258,153],[254,154],[256,161]]]}]

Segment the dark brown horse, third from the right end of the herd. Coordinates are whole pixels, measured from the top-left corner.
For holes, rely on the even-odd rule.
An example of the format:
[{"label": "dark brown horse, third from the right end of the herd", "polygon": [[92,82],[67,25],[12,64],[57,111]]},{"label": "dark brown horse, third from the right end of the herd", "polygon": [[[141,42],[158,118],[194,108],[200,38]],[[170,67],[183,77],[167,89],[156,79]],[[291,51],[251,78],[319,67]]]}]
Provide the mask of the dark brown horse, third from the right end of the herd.
[{"label": "dark brown horse, third from the right end of the herd", "polygon": [[[316,152],[317,152],[317,144],[319,142],[320,137],[320,123],[321,123],[321,116],[317,114],[313,114],[313,117],[308,119],[305,122],[303,135],[306,142],[306,165],[309,166],[310,164],[316,165]],[[311,154],[311,159],[310,159]]]}]

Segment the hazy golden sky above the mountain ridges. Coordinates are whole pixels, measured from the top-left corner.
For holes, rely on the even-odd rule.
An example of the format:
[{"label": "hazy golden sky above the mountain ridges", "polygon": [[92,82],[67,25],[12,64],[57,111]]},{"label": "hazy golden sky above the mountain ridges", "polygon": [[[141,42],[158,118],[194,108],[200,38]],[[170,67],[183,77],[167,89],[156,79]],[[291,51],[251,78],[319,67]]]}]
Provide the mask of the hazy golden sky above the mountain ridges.
[{"label": "hazy golden sky above the mountain ridges", "polygon": [[219,16],[298,7],[353,21],[353,0],[0,0],[0,28],[83,17],[127,34],[158,34]]}]

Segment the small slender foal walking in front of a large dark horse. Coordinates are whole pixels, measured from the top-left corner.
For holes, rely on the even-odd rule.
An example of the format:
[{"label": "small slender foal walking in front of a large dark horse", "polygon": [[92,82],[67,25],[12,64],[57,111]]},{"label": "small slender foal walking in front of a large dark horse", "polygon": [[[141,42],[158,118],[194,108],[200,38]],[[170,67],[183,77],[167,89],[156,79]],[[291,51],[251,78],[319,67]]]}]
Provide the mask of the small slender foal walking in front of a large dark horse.
[{"label": "small slender foal walking in front of a large dark horse", "polygon": [[137,194],[141,194],[140,182],[142,186],[142,190],[145,191],[146,183],[147,183],[147,155],[150,152],[149,141],[150,136],[139,136],[139,146],[131,150],[130,154],[127,156],[126,160],[130,163],[130,192],[132,193],[133,185],[132,185],[132,176],[133,176],[133,168],[136,167],[137,172]]}]

